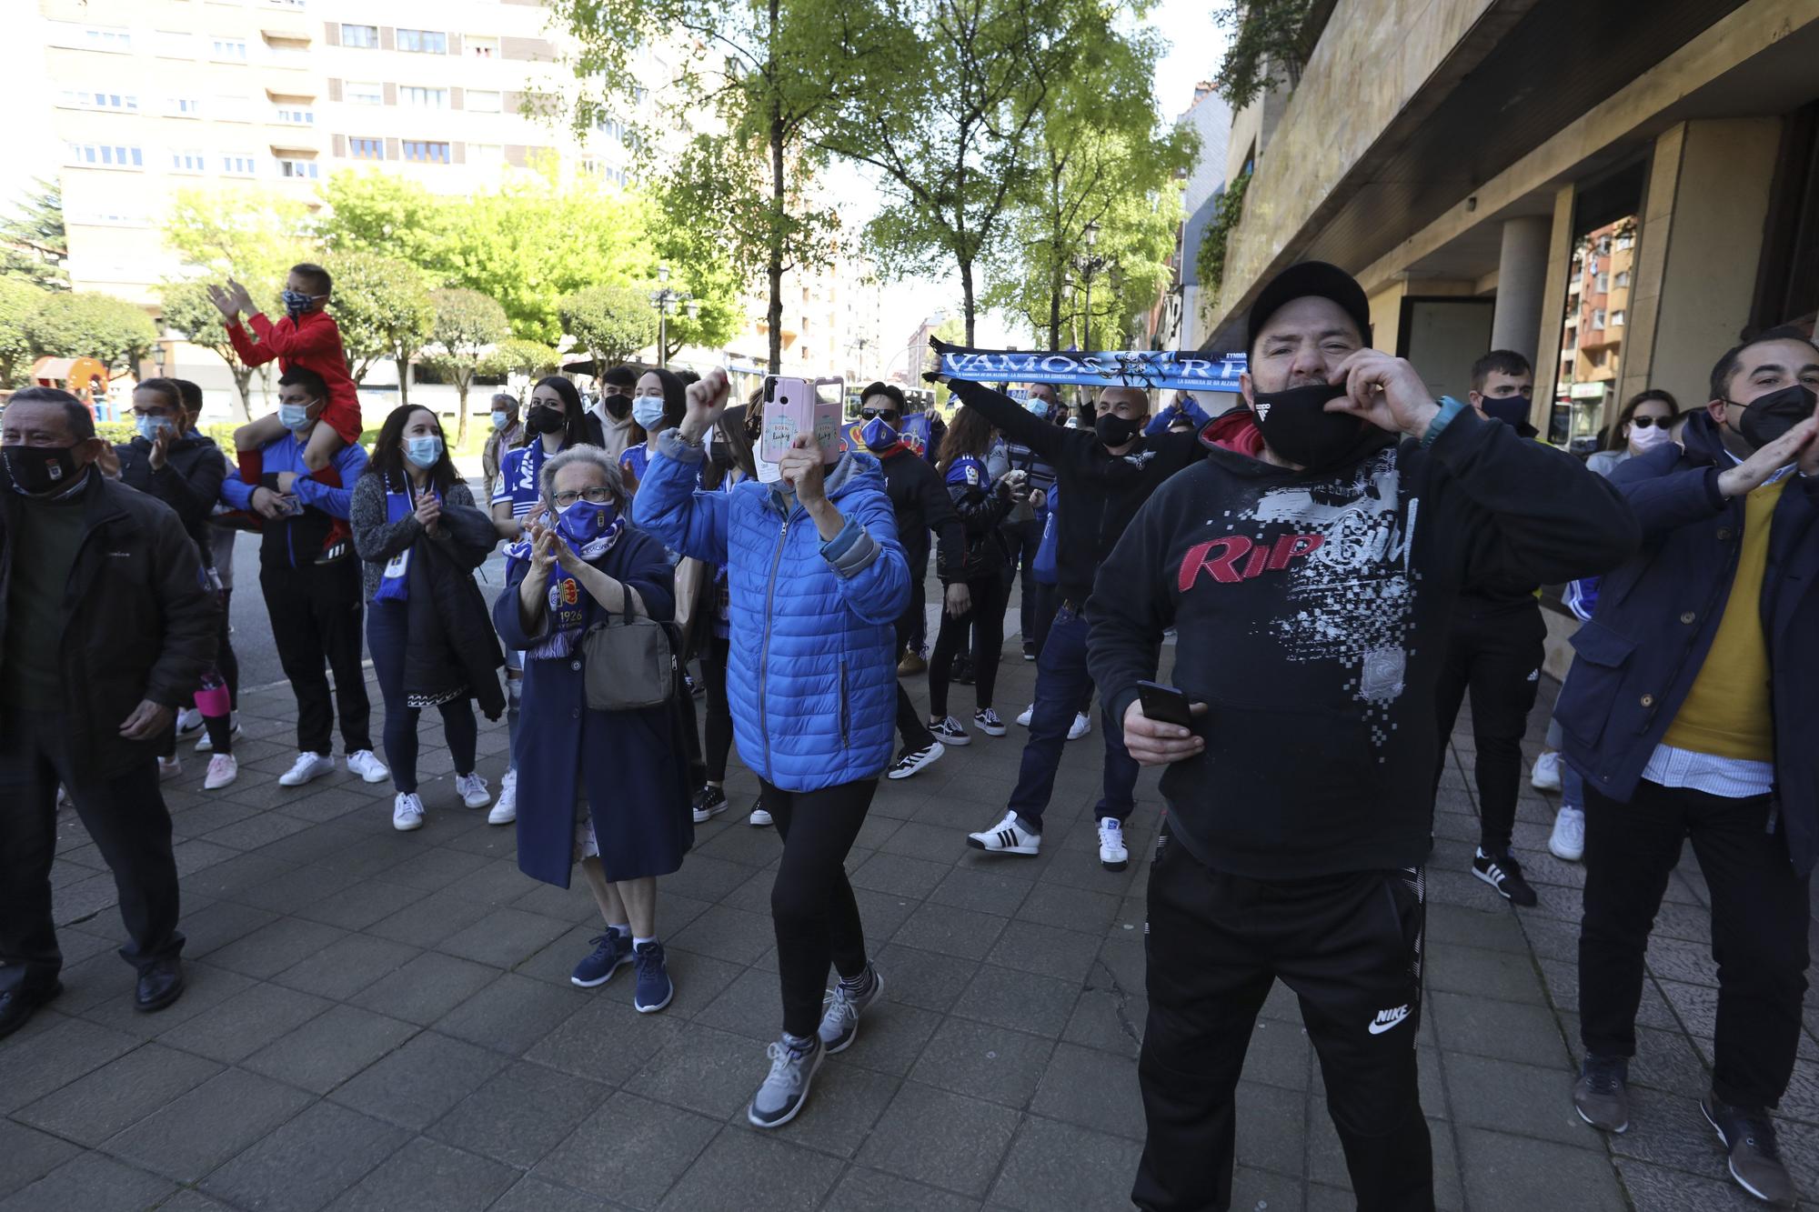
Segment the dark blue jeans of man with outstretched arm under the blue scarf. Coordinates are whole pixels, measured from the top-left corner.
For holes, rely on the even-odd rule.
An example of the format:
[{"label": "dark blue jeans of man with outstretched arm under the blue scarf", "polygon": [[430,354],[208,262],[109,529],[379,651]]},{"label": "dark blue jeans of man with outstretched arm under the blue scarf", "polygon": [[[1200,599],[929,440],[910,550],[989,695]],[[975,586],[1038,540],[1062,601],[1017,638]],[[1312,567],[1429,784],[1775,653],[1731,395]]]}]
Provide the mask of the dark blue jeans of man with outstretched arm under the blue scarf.
[{"label": "dark blue jeans of man with outstretched arm under the blue scarf", "polygon": [[[1093,690],[1086,672],[1086,619],[1073,604],[1055,611],[1042,655],[1035,662],[1035,712],[1030,715],[1030,742],[1022,770],[1011,792],[1010,808],[1031,833],[1042,832],[1042,812],[1055,793],[1055,770],[1068,744],[1068,728],[1080,701]],[[1131,815],[1137,790],[1137,761],[1124,752],[1124,724],[1100,721],[1106,735],[1106,793],[1093,815],[1124,821]]]}]

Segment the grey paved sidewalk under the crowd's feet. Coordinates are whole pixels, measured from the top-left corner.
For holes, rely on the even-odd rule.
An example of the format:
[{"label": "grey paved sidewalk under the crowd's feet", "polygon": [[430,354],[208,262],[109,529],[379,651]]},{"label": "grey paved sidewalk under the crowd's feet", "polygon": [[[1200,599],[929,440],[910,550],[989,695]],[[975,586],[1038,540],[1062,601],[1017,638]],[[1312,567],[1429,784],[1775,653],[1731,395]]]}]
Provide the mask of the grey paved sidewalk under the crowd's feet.
[{"label": "grey paved sidewalk under the crowd's feet", "polygon": [[[1033,681],[1015,641],[1010,653],[1006,717]],[[511,830],[458,806],[438,728],[426,721],[429,821],[406,835],[389,786],[347,773],[276,786],[293,721],[287,688],[246,695],[240,781],[202,793],[195,761],[166,788],[191,985],[164,1014],[133,1014],[113,881],[64,813],[65,992],[0,1043],[0,1208],[1130,1207],[1159,801],[1146,775],[1131,868],[1100,870],[1097,726],[1068,746],[1039,859],[990,861],[962,839],[1002,808],[1015,726],[880,788],[849,870],[886,1001],[802,1117],[760,1134],[744,1106],[779,1023],[777,837],[744,823],[748,773],[731,779],[737,808],[662,883],[677,997],[638,1015],[624,974],[593,992],[568,983],[598,930],[589,897],[517,872]],[[1533,722],[1539,737],[1544,708]],[[480,748],[497,786],[504,722]],[[1477,821],[1457,761],[1470,757],[1461,733],[1428,868],[1419,1039],[1441,1207],[1759,1207],[1724,1179],[1695,1105],[1715,990],[1692,859],[1650,952],[1633,1126],[1604,1137],[1568,1097],[1581,872],[1546,855],[1552,803],[1524,784],[1517,846],[1541,908],[1517,914],[1470,877]],[[1239,1088],[1233,1207],[1346,1208],[1319,1068],[1284,994]],[[1806,1023],[1781,1132],[1819,1192],[1819,1017]]]}]

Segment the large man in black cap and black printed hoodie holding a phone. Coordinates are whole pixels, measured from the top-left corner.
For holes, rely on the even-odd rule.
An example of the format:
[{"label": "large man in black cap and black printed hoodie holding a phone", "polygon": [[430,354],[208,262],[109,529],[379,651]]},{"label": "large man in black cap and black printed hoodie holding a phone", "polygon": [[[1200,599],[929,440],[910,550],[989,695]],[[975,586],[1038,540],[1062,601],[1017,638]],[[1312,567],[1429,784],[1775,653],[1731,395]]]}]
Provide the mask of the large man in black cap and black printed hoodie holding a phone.
[{"label": "large man in black cap and black printed hoodie holding a phone", "polygon": [[[1433,1207],[1415,1081],[1433,684],[1461,584],[1604,571],[1637,524],[1577,459],[1435,402],[1344,271],[1250,317],[1250,409],[1126,530],[1088,602],[1131,755],[1171,763],[1150,868],[1137,1207],[1228,1208],[1233,1090],[1281,977],[1364,1210]],[[1066,515],[1066,510],[1062,510]],[[1191,728],[1139,702],[1175,626]]]}]

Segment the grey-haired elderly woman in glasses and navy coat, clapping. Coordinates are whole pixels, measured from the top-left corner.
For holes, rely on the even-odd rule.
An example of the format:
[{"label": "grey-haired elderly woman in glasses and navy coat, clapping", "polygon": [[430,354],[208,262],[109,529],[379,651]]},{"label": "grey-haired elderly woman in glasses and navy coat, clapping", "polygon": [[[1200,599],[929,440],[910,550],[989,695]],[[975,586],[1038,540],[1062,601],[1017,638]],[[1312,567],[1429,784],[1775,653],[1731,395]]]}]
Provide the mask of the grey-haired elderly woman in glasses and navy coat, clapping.
[{"label": "grey-haired elderly woman in glasses and navy coat, clapping", "polygon": [[506,550],[506,591],[493,604],[500,639],[524,651],[518,728],[518,870],[568,888],[580,863],[606,934],[569,977],[604,985],[633,963],[640,1012],[675,988],[657,941],[657,877],[682,866],[693,841],[688,766],[664,708],[588,708],[582,635],[631,611],[675,617],[675,577],[660,542],[635,530],[618,468],[577,446],[542,466],[551,526],[531,522]]}]

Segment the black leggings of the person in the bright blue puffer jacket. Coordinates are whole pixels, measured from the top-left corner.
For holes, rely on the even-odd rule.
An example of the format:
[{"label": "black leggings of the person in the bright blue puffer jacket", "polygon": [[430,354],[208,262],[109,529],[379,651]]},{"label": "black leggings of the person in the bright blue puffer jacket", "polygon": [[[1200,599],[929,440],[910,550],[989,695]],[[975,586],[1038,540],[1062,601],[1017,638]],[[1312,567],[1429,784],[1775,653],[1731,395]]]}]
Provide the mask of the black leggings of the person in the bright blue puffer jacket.
[{"label": "black leggings of the person in the bright blue puffer jacket", "polygon": [[866,930],[846,881],[853,848],[877,779],[842,783],[819,792],[780,792],[759,779],[764,808],[784,839],[784,861],[771,884],[777,930],[777,972],[784,986],[784,1030],[813,1035],[828,992],[828,963],[842,977],[866,970]]}]

